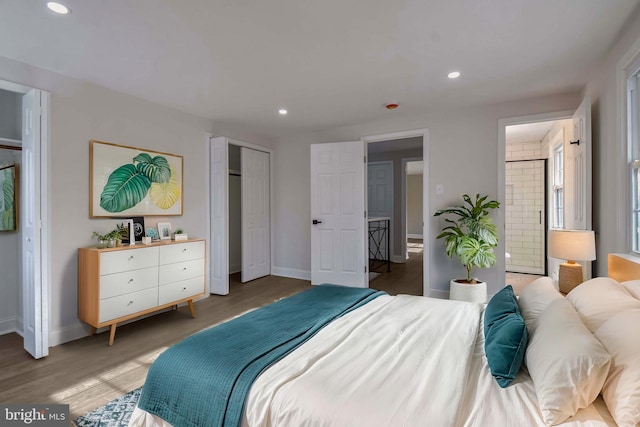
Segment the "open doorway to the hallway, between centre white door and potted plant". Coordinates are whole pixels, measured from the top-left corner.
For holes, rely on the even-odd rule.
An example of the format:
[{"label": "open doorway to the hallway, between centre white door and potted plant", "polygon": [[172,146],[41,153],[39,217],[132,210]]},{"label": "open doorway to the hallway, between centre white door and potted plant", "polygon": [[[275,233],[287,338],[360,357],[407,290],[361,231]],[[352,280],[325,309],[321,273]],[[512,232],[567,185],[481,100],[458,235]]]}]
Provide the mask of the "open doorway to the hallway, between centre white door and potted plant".
[{"label": "open doorway to the hallway, between centre white door and potted plant", "polygon": [[366,149],[369,286],[423,295],[423,137],[377,140]]}]

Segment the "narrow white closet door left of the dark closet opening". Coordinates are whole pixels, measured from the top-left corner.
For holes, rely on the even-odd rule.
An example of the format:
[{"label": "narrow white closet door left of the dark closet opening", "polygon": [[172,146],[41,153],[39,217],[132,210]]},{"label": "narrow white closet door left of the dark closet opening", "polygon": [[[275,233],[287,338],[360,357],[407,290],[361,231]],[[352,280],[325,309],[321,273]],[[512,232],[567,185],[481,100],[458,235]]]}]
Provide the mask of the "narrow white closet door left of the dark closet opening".
[{"label": "narrow white closet door left of the dark closet opening", "polygon": [[227,138],[211,138],[211,293],[229,293],[229,144]]}]

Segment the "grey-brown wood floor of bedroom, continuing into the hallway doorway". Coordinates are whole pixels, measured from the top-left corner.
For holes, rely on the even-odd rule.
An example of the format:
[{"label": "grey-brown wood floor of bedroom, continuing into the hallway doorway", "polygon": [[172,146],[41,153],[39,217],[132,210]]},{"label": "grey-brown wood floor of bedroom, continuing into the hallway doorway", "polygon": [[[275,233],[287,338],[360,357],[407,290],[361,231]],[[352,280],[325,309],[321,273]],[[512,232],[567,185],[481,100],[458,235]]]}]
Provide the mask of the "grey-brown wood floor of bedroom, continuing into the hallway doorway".
[{"label": "grey-brown wood floor of bedroom, continuing into the hallway doorway", "polygon": [[[422,295],[421,241],[410,248],[406,264],[392,264],[370,287],[389,294]],[[64,403],[71,419],[142,386],[151,363],[170,345],[209,326],[310,288],[304,280],[268,276],[249,283],[231,276],[227,296],[212,295],[187,307],[119,326],[114,345],[106,332],[72,341],[34,360],[17,334],[0,336],[0,402]]]}]

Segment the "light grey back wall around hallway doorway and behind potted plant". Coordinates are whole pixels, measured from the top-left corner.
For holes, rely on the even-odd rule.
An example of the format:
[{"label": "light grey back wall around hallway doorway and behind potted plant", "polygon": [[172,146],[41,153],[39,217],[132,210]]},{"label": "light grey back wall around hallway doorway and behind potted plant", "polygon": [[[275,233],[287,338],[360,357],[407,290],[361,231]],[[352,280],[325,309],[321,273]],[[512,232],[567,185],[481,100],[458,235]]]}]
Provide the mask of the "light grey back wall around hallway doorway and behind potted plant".
[{"label": "light grey back wall around hallway doorway and behind potted plant", "polygon": [[[311,213],[309,199],[309,145],[311,143],[352,141],[364,136],[381,135],[412,129],[429,129],[430,209],[458,203],[463,193],[486,193],[496,197],[498,188],[498,119],[562,111],[578,107],[580,96],[569,93],[497,105],[484,105],[454,111],[425,112],[412,117],[341,127],[316,134],[289,137],[276,141],[274,167],[275,224],[274,265],[278,272],[308,276],[311,268]],[[500,165],[503,167],[503,165]],[[436,195],[435,185],[444,186],[444,195]],[[433,294],[446,295],[449,280],[464,274],[457,260],[450,260],[444,244],[435,236],[443,226],[432,212],[425,212],[430,230],[430,283]],[[502,228],[504,224],[498,224]],[[504,243],[498,248],[504,253]],[[489,293],[504,285],[500,266],[476,272],[488,282]],[[443,293],[444,292],[444,293]]]}]

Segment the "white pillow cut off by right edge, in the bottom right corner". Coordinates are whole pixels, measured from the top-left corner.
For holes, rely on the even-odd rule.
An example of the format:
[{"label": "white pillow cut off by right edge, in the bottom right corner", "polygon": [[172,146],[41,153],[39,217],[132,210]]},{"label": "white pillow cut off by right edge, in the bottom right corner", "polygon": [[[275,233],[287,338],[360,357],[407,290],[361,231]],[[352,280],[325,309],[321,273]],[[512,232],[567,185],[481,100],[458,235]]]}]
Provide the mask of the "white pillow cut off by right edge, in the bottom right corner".
[{"label": "white pillow cut off by right edge, in the bottom right corner", "polygon": [[613,316],[596,331],[611,354],[602,398],[621,427],[640,424],[640,310]]}]

